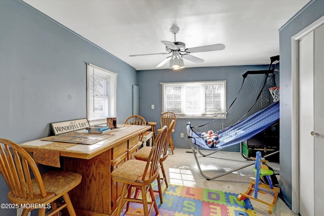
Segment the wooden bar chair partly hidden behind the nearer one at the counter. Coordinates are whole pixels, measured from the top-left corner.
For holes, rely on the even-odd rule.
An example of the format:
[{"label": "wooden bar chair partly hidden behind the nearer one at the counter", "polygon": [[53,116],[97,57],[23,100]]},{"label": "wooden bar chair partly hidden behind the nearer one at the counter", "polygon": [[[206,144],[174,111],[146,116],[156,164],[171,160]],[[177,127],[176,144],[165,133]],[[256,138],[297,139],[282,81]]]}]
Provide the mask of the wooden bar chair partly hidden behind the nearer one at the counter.
[{"label": "wooden bar chair partly hidden behind the nearer one at the counter", "polygon": [[[167,188],[169,187],[168,181],[167,181],[166,171],[165,171],[164,166],[163,166],[163,162],[168,158],[168,155],[169,155],[169,151],[168,151],[169,140],[170,140],[170,137],[171,137],[171,134],[172,134],[172,130],[174,129],[174,122],[175,122],[175,120],[172,120],[169,127],[168,127],[167,144],[164,146],[161,157],[160,157],[160,169],[162,171],[163,178],[160,178],[160,176],[158,176],[156,178],[157,179],[158,191],[154,191],[154,192],[158,192],[158,194],[160,196],[160,203],[163,203],[161,185],[163,184],[163,182],[165,182]],[[149,157],[151,149],[152,149],[152,147],[143,147],[137,153],[134,154],[134,157],[137,160],[147,161],[147,158]]]}]

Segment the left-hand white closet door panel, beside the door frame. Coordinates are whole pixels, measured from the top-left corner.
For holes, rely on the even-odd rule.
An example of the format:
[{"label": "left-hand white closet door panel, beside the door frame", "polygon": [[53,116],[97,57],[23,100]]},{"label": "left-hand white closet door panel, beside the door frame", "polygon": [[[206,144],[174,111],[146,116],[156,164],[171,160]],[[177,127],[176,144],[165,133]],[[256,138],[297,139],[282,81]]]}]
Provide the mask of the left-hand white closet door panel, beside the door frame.
[{"label": "left-hand white closet door panel, beside the door frame", "polygon": [[299,210],[314,215],[314,32],[299,41]]}]

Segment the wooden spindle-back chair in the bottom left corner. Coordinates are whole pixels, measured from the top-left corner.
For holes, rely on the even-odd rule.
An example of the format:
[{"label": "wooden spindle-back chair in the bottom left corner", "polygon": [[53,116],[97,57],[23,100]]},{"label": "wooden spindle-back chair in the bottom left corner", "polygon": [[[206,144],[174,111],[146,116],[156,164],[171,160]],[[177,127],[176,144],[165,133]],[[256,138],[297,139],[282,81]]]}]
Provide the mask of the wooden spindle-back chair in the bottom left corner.
[{"label": "wooden spindle-back chair in the bottom left corner", "polygon": [[[38,216],[45,215],[48,204],[52,206],[48,215],[59,215],[65,207],[70,216],[76,215],[68,192],[81,182],[81,175],[67,171],[49,171],[41,175],[32,157],[6,139],[0,139],[0,172],[9,187],[7,196],[11,203],[36,204],[41,207]],[[57,201],[60,197],[64,202]],[[22,216],[31,210],[33,208],[24,208]]]}]

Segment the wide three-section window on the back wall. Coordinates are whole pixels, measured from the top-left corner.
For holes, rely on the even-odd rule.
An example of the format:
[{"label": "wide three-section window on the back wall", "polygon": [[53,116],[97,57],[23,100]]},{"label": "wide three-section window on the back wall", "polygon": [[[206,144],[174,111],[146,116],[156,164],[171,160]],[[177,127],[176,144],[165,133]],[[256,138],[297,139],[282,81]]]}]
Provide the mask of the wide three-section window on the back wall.
[{"label": "wide three-section window on the back wall", "polygon": [[178,117],[222,117],[226,110],[226,81],[160,83],[162,112]]}]

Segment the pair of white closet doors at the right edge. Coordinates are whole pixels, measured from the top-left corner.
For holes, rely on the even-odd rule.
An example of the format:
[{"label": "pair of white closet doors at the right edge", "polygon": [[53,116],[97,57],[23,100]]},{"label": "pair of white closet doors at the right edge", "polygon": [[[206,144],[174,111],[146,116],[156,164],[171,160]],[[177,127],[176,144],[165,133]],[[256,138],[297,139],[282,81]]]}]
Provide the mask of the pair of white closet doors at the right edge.
[{"label": "pair of white closet doors at the right edge", "polygon": [[324,151],[324,25],[299,41],[299,209],[321,215]]}]

